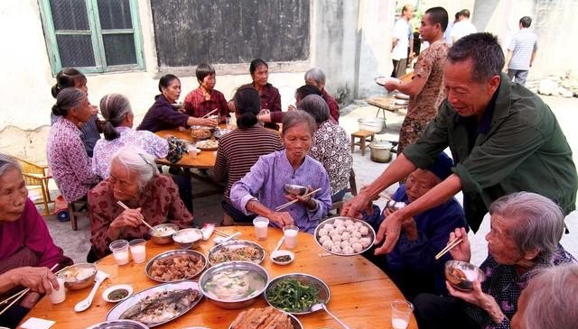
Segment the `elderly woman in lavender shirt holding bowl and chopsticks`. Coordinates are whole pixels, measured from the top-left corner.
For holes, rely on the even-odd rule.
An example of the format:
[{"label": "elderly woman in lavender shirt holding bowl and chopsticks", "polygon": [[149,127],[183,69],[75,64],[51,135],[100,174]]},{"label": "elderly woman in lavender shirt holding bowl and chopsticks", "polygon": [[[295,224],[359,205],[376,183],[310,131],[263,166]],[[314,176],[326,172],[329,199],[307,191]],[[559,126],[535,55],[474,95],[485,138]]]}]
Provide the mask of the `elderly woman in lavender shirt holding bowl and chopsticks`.
[{"label": "elderly woman in lavender shirt holding bowl and chopsticks", "polygon": [[[262,215],[278,227],[297,225],[312,233],[320,219],[331,208],[331,186],[323,165],[307,156],[317,124],[310,114],[293,111],[284,116],[282,140],[285,150],[261,156],[251,171],[231,187],[233,206],[246,215]],[[312,196],[286,195],[284,184],[296,184],[310,191],[321,188]],[[275,211],[287,201],[299,202]]]}]

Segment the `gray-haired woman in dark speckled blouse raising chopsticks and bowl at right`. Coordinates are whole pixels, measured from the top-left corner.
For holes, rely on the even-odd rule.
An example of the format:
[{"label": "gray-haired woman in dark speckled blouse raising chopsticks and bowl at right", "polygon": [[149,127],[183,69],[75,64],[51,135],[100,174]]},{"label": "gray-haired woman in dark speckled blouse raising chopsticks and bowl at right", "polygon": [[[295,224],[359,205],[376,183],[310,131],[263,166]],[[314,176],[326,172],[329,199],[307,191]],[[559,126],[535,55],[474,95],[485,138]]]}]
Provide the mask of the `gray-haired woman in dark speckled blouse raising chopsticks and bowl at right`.
[{"label": "gray-haired woman in dark speckled blouse raising chopsticks and bowl at right", "polygon": [[[489,255],[480,266],[486,280],[474,281],[472,291],[446,283],[452,297],[416,297],[415,318],[421,329],[510,328],[518,298],[538,270],[576,263],[559,243],[564,232],[562,210],[545,196],[528,192],[502,196],[489,214]],[[450,251],[452,258],[470,261],[465,229],[450,233],[450,241],[455,238],[463,240]]]}]

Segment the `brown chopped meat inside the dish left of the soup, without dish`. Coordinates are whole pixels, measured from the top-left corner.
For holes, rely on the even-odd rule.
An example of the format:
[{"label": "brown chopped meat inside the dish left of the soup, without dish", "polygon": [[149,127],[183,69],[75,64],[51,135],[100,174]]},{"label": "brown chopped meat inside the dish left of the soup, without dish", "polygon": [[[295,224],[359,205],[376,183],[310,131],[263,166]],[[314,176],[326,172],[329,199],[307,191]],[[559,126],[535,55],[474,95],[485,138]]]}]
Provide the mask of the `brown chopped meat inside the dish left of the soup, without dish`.
[{"label": "brown chopped meat inside the dish left of the soup, without dish", "polygon": [[153,261],[149,275],[161,281],[187,279],[197,275],[204,267],[199,255],[172,255]]}]

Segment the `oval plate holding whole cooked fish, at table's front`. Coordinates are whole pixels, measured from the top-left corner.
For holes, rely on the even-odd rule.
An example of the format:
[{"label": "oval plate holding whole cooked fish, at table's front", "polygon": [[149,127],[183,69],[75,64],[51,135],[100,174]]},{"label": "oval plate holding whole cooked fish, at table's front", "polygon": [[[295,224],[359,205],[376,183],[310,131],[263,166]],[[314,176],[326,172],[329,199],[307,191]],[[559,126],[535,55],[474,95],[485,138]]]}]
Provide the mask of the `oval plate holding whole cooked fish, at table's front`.
[{"label": "oval plate holding whole cooked fish, at table's front", "polygon": [[197,282],[164,283],[118,303],[108,311],[107,320],[134,320],[152,328],[189,312],[202,297]]}]

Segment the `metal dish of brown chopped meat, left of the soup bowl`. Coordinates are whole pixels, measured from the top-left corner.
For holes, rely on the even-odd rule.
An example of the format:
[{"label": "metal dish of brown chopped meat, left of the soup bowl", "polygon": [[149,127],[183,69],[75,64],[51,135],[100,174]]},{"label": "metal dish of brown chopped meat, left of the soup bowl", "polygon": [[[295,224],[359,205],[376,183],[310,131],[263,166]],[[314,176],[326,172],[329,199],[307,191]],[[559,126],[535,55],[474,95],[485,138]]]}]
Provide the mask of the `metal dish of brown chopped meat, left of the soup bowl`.
[{"label": "metal dish of brown chopped meat, left of the soup bowl", "polygon": [[199,251],[166,251],[149,260],[144,272],[158,282],[176,282],[193,278],[206,266],[207,259]]}]

